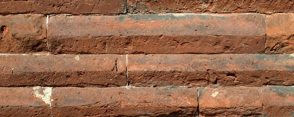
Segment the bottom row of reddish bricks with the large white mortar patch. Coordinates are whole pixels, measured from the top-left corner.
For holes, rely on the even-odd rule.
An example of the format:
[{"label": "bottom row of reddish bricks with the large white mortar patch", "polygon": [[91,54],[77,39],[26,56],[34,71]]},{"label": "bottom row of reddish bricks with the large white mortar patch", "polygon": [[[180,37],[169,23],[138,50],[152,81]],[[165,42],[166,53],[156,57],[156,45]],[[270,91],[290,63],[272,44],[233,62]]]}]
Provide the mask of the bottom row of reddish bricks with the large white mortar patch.
[{"label": "bottom row of reddish bricks with the large white mortar patch", "polygon": [[292,86],[0,90],[1,117],[291,117],[294,112]]}]

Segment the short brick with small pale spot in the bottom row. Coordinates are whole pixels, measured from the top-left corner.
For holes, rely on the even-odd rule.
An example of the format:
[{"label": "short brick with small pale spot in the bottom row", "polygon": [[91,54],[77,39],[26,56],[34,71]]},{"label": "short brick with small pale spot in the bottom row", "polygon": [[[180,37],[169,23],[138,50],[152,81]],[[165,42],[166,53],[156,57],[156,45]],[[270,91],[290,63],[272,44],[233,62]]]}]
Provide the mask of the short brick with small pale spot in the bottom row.
[{"label": "short brick with small pale spot in the bottom row", "polygon": [[260,87],[199,88],[200,117],[258,117],[262,114]]}]

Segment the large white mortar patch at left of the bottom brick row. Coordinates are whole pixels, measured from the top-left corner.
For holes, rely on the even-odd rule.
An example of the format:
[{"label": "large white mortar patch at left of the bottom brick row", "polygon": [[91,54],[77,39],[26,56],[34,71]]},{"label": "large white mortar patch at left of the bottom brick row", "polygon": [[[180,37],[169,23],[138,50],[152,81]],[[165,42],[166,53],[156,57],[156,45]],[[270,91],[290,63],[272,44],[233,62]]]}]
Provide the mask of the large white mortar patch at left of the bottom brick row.
[{"label": "large white mortar patch at left of the bottom brick row", "polygon": [[52,87],[34,87],[33,95],[37,98],[41,98],[45,103],[50,104]]}]

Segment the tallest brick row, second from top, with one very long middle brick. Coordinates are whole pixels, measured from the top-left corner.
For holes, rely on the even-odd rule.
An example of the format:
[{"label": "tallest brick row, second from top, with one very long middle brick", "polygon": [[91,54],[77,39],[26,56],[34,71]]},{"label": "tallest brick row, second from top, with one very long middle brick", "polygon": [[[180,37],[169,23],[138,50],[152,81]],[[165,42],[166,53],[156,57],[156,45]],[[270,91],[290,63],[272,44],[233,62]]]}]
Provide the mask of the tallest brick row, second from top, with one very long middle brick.
[{"label": "tallest brick row, second from top, with one very long middle brick", "polygon": [[[294,53],[293,14],[0,16],[0,53]],[[49,44],[49,45],[48,45]],[[48,50],[49,48],[49,50]]]}]

